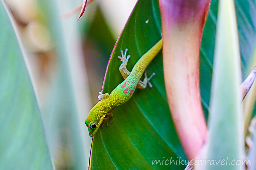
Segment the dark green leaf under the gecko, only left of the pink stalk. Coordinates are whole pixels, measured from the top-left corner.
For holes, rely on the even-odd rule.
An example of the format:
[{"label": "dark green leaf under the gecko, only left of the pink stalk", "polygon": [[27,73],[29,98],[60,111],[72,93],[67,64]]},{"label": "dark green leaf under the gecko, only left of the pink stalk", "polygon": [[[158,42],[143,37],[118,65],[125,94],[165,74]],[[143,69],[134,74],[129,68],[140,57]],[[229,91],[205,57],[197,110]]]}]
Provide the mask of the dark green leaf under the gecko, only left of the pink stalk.
[{"label": "dark green leaf under the gecko, only left of the pink stalk", "polygon": [[[161,21],[158,1],[139,0],[111,55],[103,92],[110,93],[124,81],[118,70],[121,64],[117,58],[120,49],[128,48],[131,57],[127,68],[131,70],[159,39]],[[127,103],[114,109],[114,119],[109,127],[96,133],[91,151],[91,168],[185,168],[184,165],[173,163],[165,167],[159,166],[159,162],[152,165],[153,159],[160,160],[162,164],[163,159],[169,159],[170,163],[172,157],[176,163],[177,157],[185,159],[185,155],[170,116],[163,80],[162,53],[155,57],[147,72],[156,73],[151,81],[153,88],[136,89]]]}]

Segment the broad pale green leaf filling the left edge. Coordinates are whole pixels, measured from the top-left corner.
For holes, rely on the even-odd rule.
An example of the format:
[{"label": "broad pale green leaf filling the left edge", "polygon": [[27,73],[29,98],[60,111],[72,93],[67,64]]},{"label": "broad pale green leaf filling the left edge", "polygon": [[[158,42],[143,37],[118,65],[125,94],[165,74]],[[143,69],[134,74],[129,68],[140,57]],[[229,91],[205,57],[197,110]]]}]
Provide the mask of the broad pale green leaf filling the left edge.
[{"label": "broad pale green leaf filling the left edge", "polygon": [[[4,1],[0,2],[0,167],[53,169],[31,80]],[[10,16],[10,12],[9,12]],[[12,22],[13,18],[11,17]]]}]

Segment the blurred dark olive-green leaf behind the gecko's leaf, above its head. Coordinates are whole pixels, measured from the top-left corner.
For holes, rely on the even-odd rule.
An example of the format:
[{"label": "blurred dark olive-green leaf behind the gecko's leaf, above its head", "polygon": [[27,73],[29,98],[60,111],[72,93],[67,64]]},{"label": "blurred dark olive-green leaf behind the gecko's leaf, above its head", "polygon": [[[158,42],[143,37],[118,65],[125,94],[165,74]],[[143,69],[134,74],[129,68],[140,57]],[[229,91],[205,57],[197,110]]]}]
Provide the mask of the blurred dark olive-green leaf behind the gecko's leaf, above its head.
[{"label": "blurred dark olive-green leaf behind the gecko's leaf, above its head", "polygon": [[[88,27],[86,23],[83,23],[81,30],[84,40],[84,59],[89,72],[88,79],[93,104],[99,101],[97,96],[101,91],[106,65],[116,41],[103,15],[100,5],[97,4],[91,26]],[[86,135],[88,135],[87,132]]]}]

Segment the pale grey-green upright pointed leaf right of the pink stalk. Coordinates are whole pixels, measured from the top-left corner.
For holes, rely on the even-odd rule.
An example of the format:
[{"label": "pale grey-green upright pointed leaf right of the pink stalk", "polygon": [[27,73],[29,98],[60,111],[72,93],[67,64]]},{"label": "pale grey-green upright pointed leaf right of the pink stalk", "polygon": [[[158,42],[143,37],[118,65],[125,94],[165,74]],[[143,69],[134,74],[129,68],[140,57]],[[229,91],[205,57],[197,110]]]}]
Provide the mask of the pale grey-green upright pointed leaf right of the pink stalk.
[{"label": "pale grey-green upright pointed leaf right of the pink stalk", "polygon": [[[228,164],[206,162],[202,169],[244,169],[231,160],[244,158],[241,105],[241,65],[236,14],[233,0],[219,0],[213,78],[209,109],[209,134],[202,158],[225,159]],[[229,159],[229,161],[227,160]],[[223,161],[225,162],[225,161]],[[241,162],[240,162],[241,163]]]}]

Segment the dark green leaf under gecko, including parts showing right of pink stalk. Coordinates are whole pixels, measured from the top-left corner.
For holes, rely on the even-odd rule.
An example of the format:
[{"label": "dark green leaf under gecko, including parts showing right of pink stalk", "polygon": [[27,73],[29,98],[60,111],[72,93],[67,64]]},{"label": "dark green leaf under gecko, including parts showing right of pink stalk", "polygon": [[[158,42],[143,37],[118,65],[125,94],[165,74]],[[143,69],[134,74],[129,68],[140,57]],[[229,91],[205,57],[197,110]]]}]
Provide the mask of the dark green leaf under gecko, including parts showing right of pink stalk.
[{"label": "dark green leaf under gecko, including parts showing right of pink stalk", "polygon": [[[250,5],[245,7],[244,3]],[[250,28],[254,28],[255,24],[252,19],[255,2],[237,0],[236,5],[243,58],[242,70],[243,77],[246,77],[254,46],[251,36],[255,35],[255,30]],[[200,50],[200,88],[206,118],[212,79],[217,6],[218,1],[212,0]],[[158,1],[139,0],[114,47],[105,75],[103,93],[110,93],[123,81],[118,70],[121,62],[117,58],[121,49],[128,48],[131,58],[127,68],[131,70],[139,57],[160,38],[161,21]],[[161,53],[148,66],[147,72],[148,74],[156,72],[151,81],[153,88],[136,89],[133,97],[126,104],[114,109],[114,119],[110,121],[109,127],[100,129],[95,135],[91,149],[91,169],[184,169],[184,166],[176,166],[173,163],[152,165],[152,160],[164,160],[163,164],[165,164],[165,160],[170,161],[170,156],[176,161],[177,156],[181,156],[182,160],[185,159],[185,155],[177,139],[169,112]]]}]

